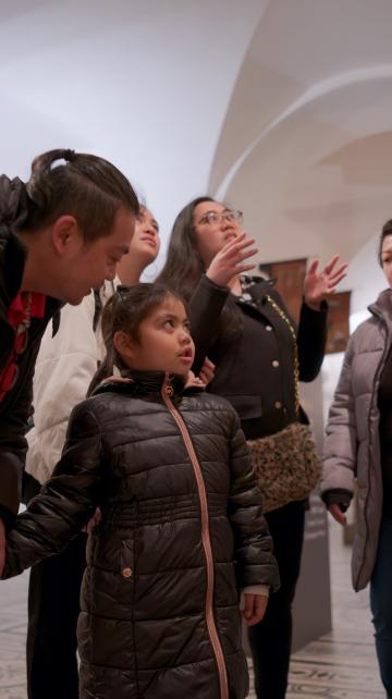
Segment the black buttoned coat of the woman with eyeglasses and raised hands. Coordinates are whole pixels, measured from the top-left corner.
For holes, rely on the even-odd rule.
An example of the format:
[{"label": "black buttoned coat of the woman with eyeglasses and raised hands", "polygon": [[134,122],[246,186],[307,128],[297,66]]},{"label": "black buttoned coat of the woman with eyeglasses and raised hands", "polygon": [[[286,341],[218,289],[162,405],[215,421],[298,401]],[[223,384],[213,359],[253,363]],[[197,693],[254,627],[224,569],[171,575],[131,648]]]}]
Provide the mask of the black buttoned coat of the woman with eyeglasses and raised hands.
[{"label": "black buttoned coat of the woman with eyeglasses and raised hands", "polygon": [[[194,371],[197,375],[204,358],[216,364],[216,375],[208,391],[224,396],[237,410],[247,439],[279,432],[297,419],[293,336],[287,323],[273,306],[271,296],[290,318],[273,283],[250,278],[249,296],[254,304],[230,294],[206,275],[189,301],[191,330],[196,345]],[[240,323],[226,328],[222,338],[220,323],[228,299],[236,305]],[[313,381],[322,364],[327,341],[327,304],[320,310],[302,305],[296,330],[299,379]],[[226,320],[226,323],[230,322]],[[302,412],[301,419],[307,421]]]}]

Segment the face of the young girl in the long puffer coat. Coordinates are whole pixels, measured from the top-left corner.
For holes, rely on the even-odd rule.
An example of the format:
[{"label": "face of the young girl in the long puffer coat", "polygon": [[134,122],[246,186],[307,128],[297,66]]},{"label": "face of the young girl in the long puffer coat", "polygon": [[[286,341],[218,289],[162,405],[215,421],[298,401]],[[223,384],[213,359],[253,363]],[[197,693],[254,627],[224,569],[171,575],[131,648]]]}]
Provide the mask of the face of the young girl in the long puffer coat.
[{"label": "face of the young girl in the long puffer coat", "polygon": [[195,345],[189,333],[189,321],[184,305],[168,294],[138,329],[138,343],[125,333],[123,342],[115,341],[117,350],[131,369],[138,371],[168,371],[186,377],[194,356]]}]

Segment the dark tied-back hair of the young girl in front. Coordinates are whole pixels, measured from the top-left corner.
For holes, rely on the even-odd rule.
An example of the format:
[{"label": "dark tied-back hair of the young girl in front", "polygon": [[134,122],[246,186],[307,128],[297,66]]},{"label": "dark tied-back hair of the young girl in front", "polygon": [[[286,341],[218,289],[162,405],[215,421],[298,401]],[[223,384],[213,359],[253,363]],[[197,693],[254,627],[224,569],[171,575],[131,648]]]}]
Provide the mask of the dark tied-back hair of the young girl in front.
[{"label": "dark tied-back hair of the young girl in front", "polygon": [[172,290],[163,284],[139,282],[133,286],[118,286],[102,312],[101,330],[107,355],[88,387],[87,395],[90,395],[101,381],[113,375],[114,366],[120,371],[121,369],[128,369],[114,347],[114,333],[118,331],[126,332],[135,343],[138,343],[140,322],[155,308],[163,304],[168,296],[175,296],[185,305],[180,295],[173,293]]}]

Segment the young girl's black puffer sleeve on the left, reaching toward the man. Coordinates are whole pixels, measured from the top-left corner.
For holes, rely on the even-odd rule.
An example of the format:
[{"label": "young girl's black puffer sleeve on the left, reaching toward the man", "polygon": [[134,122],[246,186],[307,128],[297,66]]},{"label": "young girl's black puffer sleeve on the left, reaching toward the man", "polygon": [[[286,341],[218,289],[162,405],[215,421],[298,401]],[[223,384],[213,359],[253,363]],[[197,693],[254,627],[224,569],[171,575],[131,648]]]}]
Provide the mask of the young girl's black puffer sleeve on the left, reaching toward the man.
[{"label": "young girl's black puffer sleeve on the left, reaching toward the man", "polygon": [[102,482],[101,433],[95,415],[78,405],[52,478],[16,517],[8,535],[3,577],[59,553],[94,514]]}]

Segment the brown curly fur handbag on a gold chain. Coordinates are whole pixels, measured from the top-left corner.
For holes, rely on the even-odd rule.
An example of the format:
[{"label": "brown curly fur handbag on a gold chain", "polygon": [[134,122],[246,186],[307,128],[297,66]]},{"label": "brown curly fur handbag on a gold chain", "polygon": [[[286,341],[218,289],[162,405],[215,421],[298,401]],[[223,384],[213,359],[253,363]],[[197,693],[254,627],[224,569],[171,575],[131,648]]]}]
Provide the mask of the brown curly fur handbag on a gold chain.
[{"label": "brown curly fur handbag on a gold chain", "polygon": [[265,512],[305,500],[320,478],[320,458],[308,425],[292,422],[283,430],[248,440]]}]

